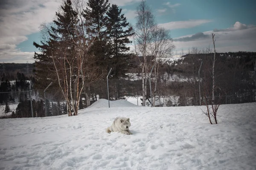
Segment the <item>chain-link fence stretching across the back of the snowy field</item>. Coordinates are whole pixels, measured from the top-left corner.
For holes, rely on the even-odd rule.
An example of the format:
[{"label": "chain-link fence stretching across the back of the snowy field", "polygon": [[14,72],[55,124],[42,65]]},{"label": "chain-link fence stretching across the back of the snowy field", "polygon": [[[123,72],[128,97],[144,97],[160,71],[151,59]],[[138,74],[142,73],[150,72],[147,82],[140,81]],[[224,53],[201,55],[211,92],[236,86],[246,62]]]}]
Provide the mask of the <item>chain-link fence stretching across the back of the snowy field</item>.
[{"label": "chain-link fence stretching across the back of the snowy field", "polygon": [[[153,77],[153,76],[152,76]],[[149,84],[151,82],[151,85]],[[143,88],[142,79],[139,74],[134,74],[132,78],[101,79],[94,82],[85,91],[89,95],[90,104],[99,99],[109,99],[111,101],[126,100],[134,105],[142,106]],[[145,81],[147,84],[145,106],[151,107],[171,107],[171,106],[191,106],[204,105],[206,99],[201,93],[199,95],[199,82],[191,81],[177,76],[163,76]],[[150,88],[151,87],[151,88]],[[204,85],[201,83],[201,87]],[[246,89],[244,93],[216,94],[216,101],[221,104],[238,104],[245,102],[256,102],[255,89]],[[34,91],[10,91],[0,92],[0,117],[44,117],[67,114],[66,101],[60,91],[48,89],[44,96],[44,90]],[[200,97],[199,97],[200,96]],[[6,105],[6,101],[7,105]],[[125,102],[120,102],[118,107],[125,107]],[[32,107],[31,107],[32,106]],[[9,109],[8,109],[9,107]],[[86,95],[81,94],[79,109],[87,108]]]}]

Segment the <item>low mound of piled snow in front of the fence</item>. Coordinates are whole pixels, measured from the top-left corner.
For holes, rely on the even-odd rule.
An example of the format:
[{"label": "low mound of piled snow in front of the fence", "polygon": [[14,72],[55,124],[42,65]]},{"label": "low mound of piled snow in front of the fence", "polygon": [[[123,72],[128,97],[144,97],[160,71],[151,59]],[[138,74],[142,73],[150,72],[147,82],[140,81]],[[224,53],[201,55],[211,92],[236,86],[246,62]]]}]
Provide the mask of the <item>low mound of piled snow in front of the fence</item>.
[{"label": "low mound of piled snow in front of the fence", "polygon": [[[109,103],[110,103],[111,108],[140,107],[140,106],[134,105],[131,102],[128,102],[125,99],[109,101]],[[88,108],[108,108],[108,100],[107,99],[99,99],[96,102],[94,102],[92,105],[90,105]]]}]

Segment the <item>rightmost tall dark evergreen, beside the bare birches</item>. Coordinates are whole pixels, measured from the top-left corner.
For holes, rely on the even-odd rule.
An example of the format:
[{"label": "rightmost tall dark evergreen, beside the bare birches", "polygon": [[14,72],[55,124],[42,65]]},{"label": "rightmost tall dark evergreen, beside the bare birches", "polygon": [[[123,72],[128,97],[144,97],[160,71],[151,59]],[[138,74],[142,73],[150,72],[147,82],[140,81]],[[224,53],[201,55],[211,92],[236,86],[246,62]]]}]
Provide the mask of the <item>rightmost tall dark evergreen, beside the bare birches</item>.
[{"label": "rightmost tall dark evergreen, beside the bare birches", "polygon": [[132,67],[131,55],[127,47],[131,43],[128,37],[132,36],[132,27],[129,27],[126,17],[122,14],[122,8],[112,5],[107,11],[107,33],[109,40],[109,54],[111,56],[111,67],[115,78],[125,76],[126,71]]}]

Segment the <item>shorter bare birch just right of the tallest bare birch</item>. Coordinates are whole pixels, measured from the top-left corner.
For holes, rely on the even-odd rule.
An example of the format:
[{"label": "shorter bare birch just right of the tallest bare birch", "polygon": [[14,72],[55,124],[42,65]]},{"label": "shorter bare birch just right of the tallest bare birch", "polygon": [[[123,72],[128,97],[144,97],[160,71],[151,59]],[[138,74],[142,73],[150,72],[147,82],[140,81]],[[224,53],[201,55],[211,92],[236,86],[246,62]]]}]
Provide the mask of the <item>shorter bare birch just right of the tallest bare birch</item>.
[{"label": "shorter bare birch just right of the tallest bare birch", "polygon": [[151,55],[154,58],[154,97],[153,97],[153,107],[155,106],[155,94],[157,91],[157,79],[159,78],[159,66],[163,58],[171,57],[175,49],[173,44],[173,39],[170,35],[170,31],[159,26],[155,26],[152,29],[152,39],[150,43]]}]

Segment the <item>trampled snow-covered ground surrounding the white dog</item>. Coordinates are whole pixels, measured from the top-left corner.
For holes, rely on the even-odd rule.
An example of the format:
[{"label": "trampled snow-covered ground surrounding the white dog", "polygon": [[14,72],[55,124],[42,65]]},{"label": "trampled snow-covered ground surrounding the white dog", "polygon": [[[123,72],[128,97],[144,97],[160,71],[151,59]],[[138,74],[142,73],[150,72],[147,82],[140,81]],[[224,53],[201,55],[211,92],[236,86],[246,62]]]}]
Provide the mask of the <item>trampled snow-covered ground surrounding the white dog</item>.
[{"label": "trampled snow-covered ground surrounding the white dog", "polygon": [[[78,116],[0,119],[0,170],[256,168],[256,103],[221,105],[218,125],[210,125],[204,106],[98,102],[105,105],[94,103]],[[105,132],[116,116],[130,118],[133,135]]]}]

